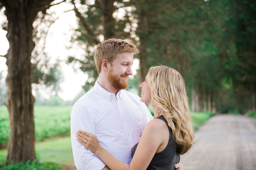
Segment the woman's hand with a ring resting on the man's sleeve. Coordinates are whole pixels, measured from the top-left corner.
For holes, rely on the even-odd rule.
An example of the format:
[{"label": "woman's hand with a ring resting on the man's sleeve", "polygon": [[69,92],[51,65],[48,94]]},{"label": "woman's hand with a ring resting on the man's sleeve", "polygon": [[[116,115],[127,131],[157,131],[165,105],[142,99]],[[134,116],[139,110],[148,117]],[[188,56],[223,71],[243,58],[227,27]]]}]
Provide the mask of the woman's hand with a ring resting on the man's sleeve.
[{"label": "woman's hand with a ring resting on the man's sleeve", "polygon": [[86,149],[89,149],[95,154],[101,148],[98,138],[92,133],[78,130],[76,132],[76,138]]}]

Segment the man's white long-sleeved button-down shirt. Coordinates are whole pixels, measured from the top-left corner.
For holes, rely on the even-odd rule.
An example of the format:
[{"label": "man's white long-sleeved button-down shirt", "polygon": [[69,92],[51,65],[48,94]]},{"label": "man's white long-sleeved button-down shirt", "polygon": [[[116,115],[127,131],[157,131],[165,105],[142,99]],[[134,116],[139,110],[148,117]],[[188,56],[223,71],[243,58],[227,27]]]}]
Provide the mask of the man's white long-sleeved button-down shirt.
[{"label": "man's white long-sleeved button-down shirt", "polygon": [[131,147],[139,142],[145,125],[152,120],[140,97],[126,90],[115,96],[97,82],[76,101],[71,111],[71,143],[78,170],[101,170],[105,164],[76,140],[81,129],[97,136],[100,145],[116,159],[130,164]]}]

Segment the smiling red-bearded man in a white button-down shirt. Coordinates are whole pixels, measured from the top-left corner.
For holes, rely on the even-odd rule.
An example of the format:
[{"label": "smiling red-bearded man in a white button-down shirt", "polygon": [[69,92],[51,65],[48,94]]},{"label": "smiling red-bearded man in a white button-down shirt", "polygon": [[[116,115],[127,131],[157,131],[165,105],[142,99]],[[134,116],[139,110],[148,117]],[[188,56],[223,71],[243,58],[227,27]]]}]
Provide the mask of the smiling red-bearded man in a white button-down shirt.
[{"label": "smiling red-bearded man in a white button-down shirt", "polygon": [[77,169],[109,169],[76,140],[79,129],[96,135],[111,155],[130,164],[131,147],[139,142],[145,125],[152,119],[140,97],[123,90],[132,75],[133,54],[137,53],[134,44],[122,39],[108,39],[97,46],[94,61],[99,80],[71,111],[71,142]]}]

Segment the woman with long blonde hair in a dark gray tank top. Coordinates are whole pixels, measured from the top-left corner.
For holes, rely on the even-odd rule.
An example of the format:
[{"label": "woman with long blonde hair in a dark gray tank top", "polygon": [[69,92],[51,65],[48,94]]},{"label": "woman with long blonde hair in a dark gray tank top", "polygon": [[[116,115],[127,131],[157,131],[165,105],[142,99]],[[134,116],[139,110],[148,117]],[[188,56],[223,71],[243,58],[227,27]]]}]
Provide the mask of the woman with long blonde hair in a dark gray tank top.
[{"label": "woman with long blonde hair in a dark gray tank top", "polygon": [[[77,140],[111,169],[174,169],[180,154],[195,143],[185,83],[178,71],[166,66],[151,67],[142,89],[141,102],[150,104],[155,118],[146,124],[140,142],[132,148],[127,165],[102,148],[95,135],[77,132]],[[87,140],[86,144],[82,141]]]}]

